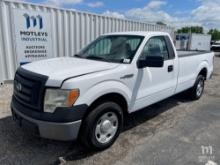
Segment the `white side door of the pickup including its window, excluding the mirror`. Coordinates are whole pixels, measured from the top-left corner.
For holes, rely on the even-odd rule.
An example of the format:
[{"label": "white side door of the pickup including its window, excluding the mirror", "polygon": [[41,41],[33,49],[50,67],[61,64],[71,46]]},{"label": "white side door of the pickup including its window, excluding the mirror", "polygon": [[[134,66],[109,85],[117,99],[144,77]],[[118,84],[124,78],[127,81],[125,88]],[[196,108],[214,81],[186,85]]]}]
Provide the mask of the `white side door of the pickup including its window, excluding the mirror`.
[{"label": "white side door of the pickup including its window, excluding the mirror", "polygon": [[[156,103],[174,94],[177,81],[177,68],[175,68],[175,53],[171,45],[167,44],[166,36],[150,38],[140,56],[162,56],[163,67],[145,67],[138,69],[139,89],[136,97],[134,111]],[[170,44],[170,43],[169,43]]]}]

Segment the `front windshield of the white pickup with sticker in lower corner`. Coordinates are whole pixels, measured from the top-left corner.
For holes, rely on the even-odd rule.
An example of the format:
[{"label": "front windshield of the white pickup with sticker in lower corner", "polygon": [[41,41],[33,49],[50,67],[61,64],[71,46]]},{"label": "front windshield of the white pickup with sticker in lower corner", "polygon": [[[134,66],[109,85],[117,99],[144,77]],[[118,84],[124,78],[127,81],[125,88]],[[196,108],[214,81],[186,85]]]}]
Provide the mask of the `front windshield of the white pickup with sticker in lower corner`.
[{"label": "front windshield of the white pickup with sticker in lower corner", "polygon": [[92,60],[130,63],[143,38],[143,36],[134,35],[102,36],[75,56]]}]

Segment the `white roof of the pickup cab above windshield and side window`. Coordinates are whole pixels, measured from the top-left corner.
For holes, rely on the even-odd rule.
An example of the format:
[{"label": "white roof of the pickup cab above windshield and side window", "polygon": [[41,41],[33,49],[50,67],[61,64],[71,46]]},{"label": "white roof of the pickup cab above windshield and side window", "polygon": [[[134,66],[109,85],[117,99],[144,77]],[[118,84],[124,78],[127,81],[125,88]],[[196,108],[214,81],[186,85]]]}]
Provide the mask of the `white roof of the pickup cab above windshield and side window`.
[{"label": "white roof of the pickup cab above windshield and side window", "polygon": [[160,31],[128,31],[128,32],[114,32],[114,33],[106,33],[106,35],[138,35],[138,36],[147,36],[147,35],[169,35],[167,32]]}]

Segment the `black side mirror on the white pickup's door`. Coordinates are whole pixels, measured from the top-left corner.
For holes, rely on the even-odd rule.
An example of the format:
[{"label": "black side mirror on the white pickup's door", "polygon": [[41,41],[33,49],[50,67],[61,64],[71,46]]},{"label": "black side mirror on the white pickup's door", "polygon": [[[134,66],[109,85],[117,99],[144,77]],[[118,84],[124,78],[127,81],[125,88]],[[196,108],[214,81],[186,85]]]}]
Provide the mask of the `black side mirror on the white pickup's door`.
[{"label": "black side mirror on the white pickup's door", "polygon": [[138,68],[145,67],[163,67],[164,58],[161,56],[147,56],[145,59],[140,59],[137,62]]}]

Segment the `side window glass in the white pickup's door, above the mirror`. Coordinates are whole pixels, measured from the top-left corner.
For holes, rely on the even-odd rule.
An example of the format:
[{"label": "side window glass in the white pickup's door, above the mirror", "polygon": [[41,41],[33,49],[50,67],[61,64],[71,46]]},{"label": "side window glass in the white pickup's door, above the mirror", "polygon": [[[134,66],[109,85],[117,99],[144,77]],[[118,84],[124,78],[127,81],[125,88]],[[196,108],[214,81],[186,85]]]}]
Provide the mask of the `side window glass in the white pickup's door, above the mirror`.
[{"label": "side window glass in the white pickup's door, above the mirror", "polygon": [[148,40],[141,58],[146,58],[147,56],[161,56],[164,57],[164,60],[169,58],[167,44],[163,36],[152,37]]}]

